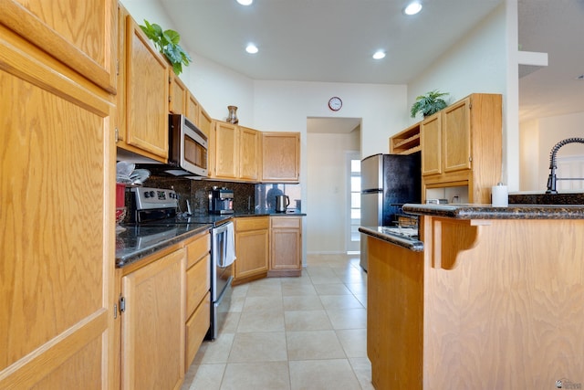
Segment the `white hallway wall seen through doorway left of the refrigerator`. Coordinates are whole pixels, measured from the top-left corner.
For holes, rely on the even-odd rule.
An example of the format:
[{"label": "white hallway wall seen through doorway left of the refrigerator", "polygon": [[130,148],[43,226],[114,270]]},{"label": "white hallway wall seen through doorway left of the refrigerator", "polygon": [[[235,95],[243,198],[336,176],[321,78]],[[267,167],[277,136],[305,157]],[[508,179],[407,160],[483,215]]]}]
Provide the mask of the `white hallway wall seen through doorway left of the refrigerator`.
[{"label": "white hallway wall seen through doorway left of the refrigerator", "polygon": [[349,225],[347,151],[360,150],[360,132],[308,133],[308,253],[344,253]]}]

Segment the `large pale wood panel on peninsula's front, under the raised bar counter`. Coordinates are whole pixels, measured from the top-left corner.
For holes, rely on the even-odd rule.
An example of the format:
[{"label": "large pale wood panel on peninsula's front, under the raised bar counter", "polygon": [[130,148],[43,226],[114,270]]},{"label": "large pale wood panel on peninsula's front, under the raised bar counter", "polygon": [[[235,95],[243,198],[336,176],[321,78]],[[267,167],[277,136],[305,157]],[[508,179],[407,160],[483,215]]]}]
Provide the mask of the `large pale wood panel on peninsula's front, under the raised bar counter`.
[{"label": "large pale wood panel on peninsula's front, under the raised bar counter", "polygon": [[[434,245],[457,256],[452,269],[426,258],[424,387],[584,383],[584,221],[435,221]],[[470,247],[461,229],[478,229]]]}]

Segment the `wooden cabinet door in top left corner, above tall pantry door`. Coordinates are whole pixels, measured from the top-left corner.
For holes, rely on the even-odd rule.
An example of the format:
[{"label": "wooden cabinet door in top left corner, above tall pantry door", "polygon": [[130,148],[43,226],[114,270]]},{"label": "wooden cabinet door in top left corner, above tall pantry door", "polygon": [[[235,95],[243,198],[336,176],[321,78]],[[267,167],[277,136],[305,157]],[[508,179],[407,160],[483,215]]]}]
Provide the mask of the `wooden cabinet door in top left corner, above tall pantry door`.
[{"label": "wooden cabinet door in top left corner, above tall pantry door", "polygon": [[70,69],[116,92],[116,1],[3,0],[0,24]]}]

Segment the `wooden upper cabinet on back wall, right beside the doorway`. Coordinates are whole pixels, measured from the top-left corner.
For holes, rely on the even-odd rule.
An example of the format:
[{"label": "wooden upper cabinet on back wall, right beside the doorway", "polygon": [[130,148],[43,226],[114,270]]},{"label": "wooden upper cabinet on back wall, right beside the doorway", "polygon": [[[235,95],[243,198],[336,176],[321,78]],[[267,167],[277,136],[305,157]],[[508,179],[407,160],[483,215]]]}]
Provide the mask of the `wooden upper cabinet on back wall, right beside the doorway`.
[{"label": "wooden upper cabinet on back wall, right beside the doorway", "polygon": [[300,133],[262,132],[262,182],[298,183]]}]

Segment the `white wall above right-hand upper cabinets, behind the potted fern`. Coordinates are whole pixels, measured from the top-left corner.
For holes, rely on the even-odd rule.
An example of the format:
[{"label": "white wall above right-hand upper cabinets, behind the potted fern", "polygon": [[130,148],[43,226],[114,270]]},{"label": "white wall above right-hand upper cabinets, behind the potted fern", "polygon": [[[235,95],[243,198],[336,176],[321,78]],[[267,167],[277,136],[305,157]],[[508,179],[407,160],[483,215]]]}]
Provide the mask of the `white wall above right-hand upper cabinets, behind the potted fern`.
[{"label": "white wall above right-hand upper cabinets, behind the potted fern", "polygon": [[[415,97],[430,90],[450,93],[450,103],[461,100],[475,92],[500,93],[503,95],[503,181],[510,188],[518,187],[518,173],[514,172],[518,159],[518,144],[515,135],[508,134],[506,125],[507,100],[507,18],[506,3],[499,5],[472,31],[443,56],[433,62],[422,75],[408,86],[408,107]],[[516,44],[515,44],[516,47]],[[516,109],[515,109],[516,110]],[[410,119],[411,123],[422,118]],[[518,132],[518,126],[511,132]],[[517,136],[518,138],[518,136]],[[509,169],[508,165],[513,165]],[[517,168],[518,169],[518,168]]]}]

